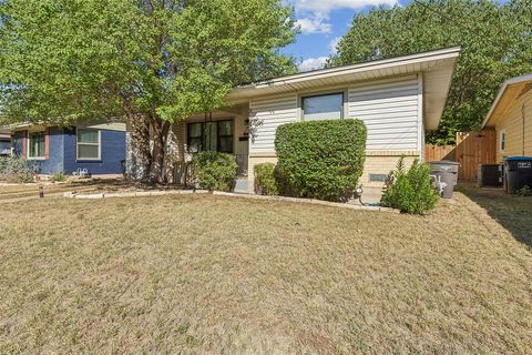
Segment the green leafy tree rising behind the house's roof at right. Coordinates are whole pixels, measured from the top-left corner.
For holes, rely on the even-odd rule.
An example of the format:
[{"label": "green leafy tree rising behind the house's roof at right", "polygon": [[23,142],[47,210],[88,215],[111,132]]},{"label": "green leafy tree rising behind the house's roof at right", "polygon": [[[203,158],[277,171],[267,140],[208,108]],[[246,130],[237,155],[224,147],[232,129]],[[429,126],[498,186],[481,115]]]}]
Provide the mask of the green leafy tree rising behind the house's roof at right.
[{"label": "green leafy tree rising behind the house's roof at right", "polygon": [[480,128],[501,83],[532,72],[532,0],[416,0],[374,8],[352,20],[329,65],[462,45],[432,143]]}]

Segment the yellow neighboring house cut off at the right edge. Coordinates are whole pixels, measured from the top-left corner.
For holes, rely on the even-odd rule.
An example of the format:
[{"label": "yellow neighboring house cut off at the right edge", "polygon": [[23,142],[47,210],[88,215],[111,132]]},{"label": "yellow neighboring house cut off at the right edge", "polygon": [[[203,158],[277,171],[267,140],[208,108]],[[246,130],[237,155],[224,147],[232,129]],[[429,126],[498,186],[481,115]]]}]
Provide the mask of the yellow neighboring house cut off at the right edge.
[{"label": "yellow neighboring house cut off at the right edge", "polygon": [[482,128],[497,130],[497,160],[532,156],[532,74],[507,80]]}]

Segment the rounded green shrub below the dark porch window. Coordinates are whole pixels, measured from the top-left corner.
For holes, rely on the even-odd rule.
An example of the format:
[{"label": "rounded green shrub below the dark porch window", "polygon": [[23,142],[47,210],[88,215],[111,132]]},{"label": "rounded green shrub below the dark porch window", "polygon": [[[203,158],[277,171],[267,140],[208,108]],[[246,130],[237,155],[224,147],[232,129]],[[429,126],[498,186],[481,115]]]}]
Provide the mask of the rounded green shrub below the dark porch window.
[{"label": "rounded green shrub below the dark porch window", "polygon": [[194,156],[194,175],[202,189],[232,191],[238,165],[235,155],[201,152]]}]

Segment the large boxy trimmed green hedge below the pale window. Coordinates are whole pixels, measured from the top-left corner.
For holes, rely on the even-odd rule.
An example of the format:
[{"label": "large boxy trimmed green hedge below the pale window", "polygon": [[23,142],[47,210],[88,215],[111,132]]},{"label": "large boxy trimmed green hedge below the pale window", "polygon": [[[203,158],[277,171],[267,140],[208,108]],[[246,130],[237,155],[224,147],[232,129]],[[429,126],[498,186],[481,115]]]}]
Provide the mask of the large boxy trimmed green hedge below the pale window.
[{"label": "large boxy trimmed green hedge below the pale window", "polygon": [[366,159],[359,120],[310,121],[277,128],[275,150],[283,192],[327,201],[352,196]]}]

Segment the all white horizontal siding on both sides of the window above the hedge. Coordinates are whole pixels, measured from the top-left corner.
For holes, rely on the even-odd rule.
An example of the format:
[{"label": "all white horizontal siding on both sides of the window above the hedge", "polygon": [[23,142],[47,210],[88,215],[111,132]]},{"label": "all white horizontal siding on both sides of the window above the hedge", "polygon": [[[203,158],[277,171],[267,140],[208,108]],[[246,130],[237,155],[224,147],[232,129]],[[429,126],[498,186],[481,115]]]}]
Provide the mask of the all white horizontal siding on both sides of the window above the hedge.
[{"label": "all white horizontal siding on both sides of the window above the hedge", "polygon": [[[422,82],[417,75],[365,82],[347,88],[345,116],[360,119],[368,128],[367,151],[421,151]],[[342,92],[346,89],[330,90]],[[277,126],[298,121],[298,104],[307,94],[253,99],[250,153],[275,152]],[[311,94],[308,94],[311,95]]]}]

